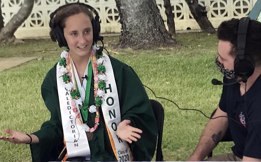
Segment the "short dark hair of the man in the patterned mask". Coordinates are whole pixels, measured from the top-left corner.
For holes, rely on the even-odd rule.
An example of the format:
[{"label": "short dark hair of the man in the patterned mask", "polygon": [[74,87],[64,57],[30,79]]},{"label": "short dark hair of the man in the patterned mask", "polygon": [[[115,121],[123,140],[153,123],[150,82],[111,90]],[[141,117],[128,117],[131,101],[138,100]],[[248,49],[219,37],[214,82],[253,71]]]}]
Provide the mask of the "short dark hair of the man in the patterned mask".
[{"label": "short dark hair of the man in the patterned mask", "polygon": [[[239,19],[231,19],[223,21],[217,29],[217,37],[219,40],[229,41],[232,44],[230,55],[236,57],[237,50],[237,30]],[[246,35],[245,53],[251,55],[256,65],[261,65],[261,23],[250,20]]]}]

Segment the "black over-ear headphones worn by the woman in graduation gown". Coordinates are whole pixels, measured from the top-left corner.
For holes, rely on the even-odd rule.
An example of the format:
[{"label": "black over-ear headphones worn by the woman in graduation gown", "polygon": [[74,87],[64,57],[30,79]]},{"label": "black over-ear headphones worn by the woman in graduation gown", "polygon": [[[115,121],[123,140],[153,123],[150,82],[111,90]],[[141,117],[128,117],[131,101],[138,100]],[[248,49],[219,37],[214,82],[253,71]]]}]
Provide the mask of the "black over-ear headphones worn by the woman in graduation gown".
[{"label": "black over-ear headphones worn by the woman in graduation gown", "polygon": [[73,5],[73,4],[77,4],[77,5],[83,5],[85,7],[87,7],[88,9],[90,9],[91,12],[95,13],[95,17],[91,19],[91,25],[92,25],[92,31],[93,31],[93,42],[97,43],[97,41],[99,40],[103,40],[103,37],[99,36],[99,33],[101,31],[101,26],[100,26],[100,17],[98,15],[98,12],[91,6],[86,5],[84,3],[69,3],[66,5],[63,5],[61,7],[59,7],[57,10],[55,10],[53,13],[51,13],[50,15],[50,23],[49,23],[49,27],[52,29],[52,34],[54,36],[54,39],[56,39],[59,47],[67,47],[67,41],[64,37],[63,34],[63,29],[60,26],[60,24],[57,23],[53,23],[53,18],[55,17],[55,14],[60,10],[63,9],[69,5]]}]

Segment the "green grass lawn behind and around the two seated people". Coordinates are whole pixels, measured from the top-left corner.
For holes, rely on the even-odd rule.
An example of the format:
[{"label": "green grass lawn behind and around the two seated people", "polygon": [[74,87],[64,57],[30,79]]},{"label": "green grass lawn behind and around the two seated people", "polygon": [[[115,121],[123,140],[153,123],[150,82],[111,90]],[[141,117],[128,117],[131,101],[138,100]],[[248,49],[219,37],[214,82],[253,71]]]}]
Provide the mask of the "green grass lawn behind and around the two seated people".
[{"label": "green grass lawn behind and around the two seated people", "polygon": [[[213,86],[212,78],[222,80],[214,65],[217,57],[216,35],[205,33],[177,34],[184,48],[152,50],[112,49],[118,37],[106,37],[110,55],[133,67],[143,84],[157,96],[169,98],[181,108],[196,108],[207,116],[217,107],[222,86]],[[0,135],[5,128],[32,133],[50,118],[41,97],[40,86],[50,68],[59,60],[62,49],[50,39],[25,40],[18,45],[1,46],[0,59],[7,57],[43,57],[16,68],[0,72]],[[149,98],[155,99],[146,89]],[[195,111],[178,110],[165,100],[157,99],[165,109],[162,149],[165,161],[186,161],[192,154],[209,119]],[[228,152],[233,143],[220,143],[213,154]],[[155,159],[155,157],[154,157]],[[26,144],[0,141],[0,161],[31,161]]]}]

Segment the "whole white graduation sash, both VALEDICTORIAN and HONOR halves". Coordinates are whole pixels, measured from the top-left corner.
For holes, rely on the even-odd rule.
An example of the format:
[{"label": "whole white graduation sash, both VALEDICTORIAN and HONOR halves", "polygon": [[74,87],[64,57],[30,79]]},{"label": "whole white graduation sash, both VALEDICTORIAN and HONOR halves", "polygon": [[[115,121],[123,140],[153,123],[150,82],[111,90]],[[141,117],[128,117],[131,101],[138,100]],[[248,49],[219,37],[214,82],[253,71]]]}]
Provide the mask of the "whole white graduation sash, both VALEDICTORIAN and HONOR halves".
[{"label": "whole white graduation sash, both VALEDICTORIAN and HONOR halves", "polygon": [[[110,143],[114,151],[114,155],[118,161],[132,161],[132,154],[126,141],[123,141],[116,135],[117,125],[121,121],[120,105],[118,98],[118,91],[114,78],[114,72],[108,55],[103,54],[103,65],[106,68],[106,88],[104,101],[101,105],[106,129],[110,138]],[[84,127],[75,119],[75,113],[72,110],[69,91],[67,92],[65,82],[61,78],[61,66],[57,64],[57,88],[59,95],[59,104],[62,117],[63,133],[69,157],[82,156],[89,160],[91,157],[89,143],[85,133]],[[68,70],[73,74],[71,68]],[[72,75],[71,82],[75,85],[75,79]],[[80,84],[80,83],[79,83]],[[79,85],[78,84],[78,85]],[[79,111],[79,110],[78,110]],[[80,113],[80,112],[79,112]],[[80,119],[81,119],[81,115]],[[99,128],[98,128],[99,129]],[[98,146],[97,146],[98,147]]]}]

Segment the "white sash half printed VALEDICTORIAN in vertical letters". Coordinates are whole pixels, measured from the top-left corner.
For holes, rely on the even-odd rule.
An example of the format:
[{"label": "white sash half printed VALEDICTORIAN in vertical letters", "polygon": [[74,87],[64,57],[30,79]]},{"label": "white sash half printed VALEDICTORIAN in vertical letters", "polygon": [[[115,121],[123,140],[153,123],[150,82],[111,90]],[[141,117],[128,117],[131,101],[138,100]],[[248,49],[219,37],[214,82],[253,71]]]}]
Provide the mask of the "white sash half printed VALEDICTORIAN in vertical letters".
[{"label": "white sash half printed VALEDICTORIAN in vertical letters", "polygon": [[[63,135],[65,138],[66,149],[68,158],[82,156],[86,160],[91,158],[91,152],[85,130],[78,123],[75,113],[73,112],[73,106],[71,106],[70,92],[65,89],[65,83],[59,76],[59,62],[56,67],[56,80],[59,95],[59,104],[62,117]],[[72,69],[70,69],[71,74]],[[60,78],[59,78],[60,77]],[[72,75],[71,82],[74,84],[74,76]],[[79,113],[79,109],[78,113]],[[79,114],[80,118],[81,115]]]}]

